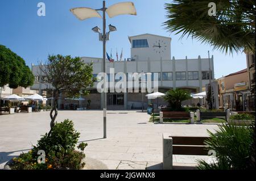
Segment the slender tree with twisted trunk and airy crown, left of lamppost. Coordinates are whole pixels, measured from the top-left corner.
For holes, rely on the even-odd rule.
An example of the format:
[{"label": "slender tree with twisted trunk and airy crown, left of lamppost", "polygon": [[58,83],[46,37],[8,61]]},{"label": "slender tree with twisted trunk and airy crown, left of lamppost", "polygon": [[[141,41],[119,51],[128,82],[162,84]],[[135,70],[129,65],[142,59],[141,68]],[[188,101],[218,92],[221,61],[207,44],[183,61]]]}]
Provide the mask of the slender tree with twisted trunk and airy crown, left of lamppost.
[{"label": "slender tree with twisted trunk and airy crown, left of lamppost", "polygon": [[[78,98],[89,94],[88,87],[93,86],[92,64],[84,64],[80,57],[48,56],[45,65],[40,65],[44,81],[49,83],[48,92],[52,94],[53,104],[50,112],[51,133],[57,117],[57,100],[63,93],[69,98]],[[53,115],[54,112],[54,115]],[[49,134],[48,133],[48,134]]]}]

